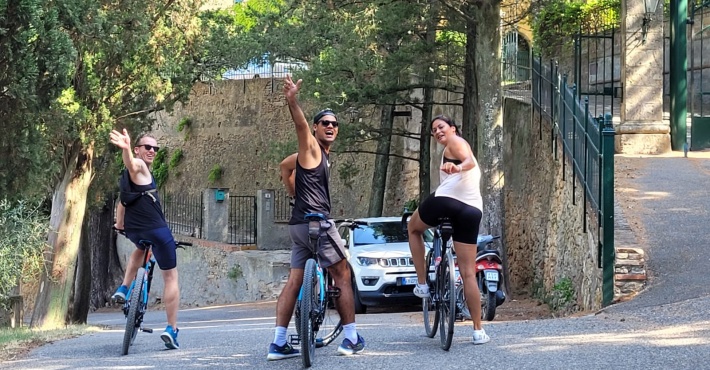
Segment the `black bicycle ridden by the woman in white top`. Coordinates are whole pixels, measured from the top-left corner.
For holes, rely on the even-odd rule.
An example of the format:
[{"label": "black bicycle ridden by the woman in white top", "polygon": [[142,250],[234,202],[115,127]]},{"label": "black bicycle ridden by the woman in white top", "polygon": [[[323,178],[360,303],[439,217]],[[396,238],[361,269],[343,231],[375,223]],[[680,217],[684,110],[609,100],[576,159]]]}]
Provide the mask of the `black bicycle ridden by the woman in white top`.
[{"label": "black bicycle ridden by the woman in white top", "polygon": [[[412,212],[402,214],[402,229],[407,233],[407,219]],[[454,233],[451,221],[439,219],[439,226],[434,231],[434,242],[426,254],[426,283],[429,285],[429,298],[422,298],[424,330],[429,338],[434,338],[437,328],[441,338],[441,348],[448,351],[454,337],[456,321],[456,266],[451,248],[447,248]]]}]

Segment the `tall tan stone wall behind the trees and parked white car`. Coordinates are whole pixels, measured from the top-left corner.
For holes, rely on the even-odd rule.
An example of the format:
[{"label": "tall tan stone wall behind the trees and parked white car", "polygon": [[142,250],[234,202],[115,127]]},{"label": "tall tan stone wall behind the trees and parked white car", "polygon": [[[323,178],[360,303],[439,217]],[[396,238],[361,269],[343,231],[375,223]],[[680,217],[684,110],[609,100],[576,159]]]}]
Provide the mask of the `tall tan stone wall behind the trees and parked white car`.
[{"label": "tall tan stone wall behind the trees and parked white car", "polygon": [[[306,117],[319,110],[310,106],[303,109]],[[178,123],[184,117],[189,117],[192,123],[179,132]],[[373,113],[372,117],[379,117],[379,114]],[[344,115],[339,119],[345,121]],[[395,119],[396,127],[410,128],[417,124],[418,121],[407,117]],[[169,193],[188,194],[200,194],[208,187],[229,188],[232,195],[256,195],[259,189],[281,189],[278,164],[282,156],[275,153],[279,151],[278,147],[288,142],[295,150],[296,140],[293,122],[280,91],[280,80],[268,78],[197,83],[186,105],[177,105],[172,112],[156,115],[152,134],[168,148],[168,158],[175,150],[182,150],[183,159],[169,171],[165,189]],[[418,143],[411,139],[395,137],[392,142],[392,152],[400,156],[413,157],[417,150]],[[338,154],[337,141],[333,151],[333,216],[366,216],[374,155]],[[346,158],[354,159],[359,169],[349,187],[340,178],[342,165],[339,164]],[[208,176],[214,165],[220,165],[223,174],[219,181],[211,184]],[[385,215],[401,214],[404,203],[416,196],[416,168],[415,161],[391,158]]]}]

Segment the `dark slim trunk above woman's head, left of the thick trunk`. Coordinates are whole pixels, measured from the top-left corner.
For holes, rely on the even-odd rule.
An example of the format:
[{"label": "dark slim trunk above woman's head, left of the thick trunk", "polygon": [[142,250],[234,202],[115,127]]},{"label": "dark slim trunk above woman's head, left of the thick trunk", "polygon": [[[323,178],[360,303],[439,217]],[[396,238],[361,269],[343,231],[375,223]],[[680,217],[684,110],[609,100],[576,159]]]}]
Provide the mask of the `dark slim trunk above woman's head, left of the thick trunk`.
[{"label": "dark slim trunk above woman's head, left of the thick trunk", "polygon": [[[469,13],[473,13],[469,11]],[[477,22],[466,19],[466,55],[464,60],[463,121],[461,135],[471,145],[473,155],[478,158],[478,123],[481,108],[478,96],[478,74],[476,71]]]}]

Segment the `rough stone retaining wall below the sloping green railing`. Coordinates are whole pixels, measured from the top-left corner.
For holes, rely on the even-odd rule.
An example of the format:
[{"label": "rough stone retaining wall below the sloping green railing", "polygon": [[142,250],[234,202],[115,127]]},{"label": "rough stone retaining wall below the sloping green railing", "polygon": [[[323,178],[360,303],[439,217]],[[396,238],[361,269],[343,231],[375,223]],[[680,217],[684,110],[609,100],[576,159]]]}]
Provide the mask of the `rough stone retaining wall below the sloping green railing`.
[{"label": "rough stone retaining wall below the sloping green railing", "polygon": [[585,232],[583,187],[577,182],[573,194],[577,180],[571,165],[565,164],[563,176],[561,143],[556,137],[553,141],[549,122],[543,121],[541,130],[539,118],[529,103],[505,100],[503,197],[510,288],[548,300],[564,293],[558,284],[569,279],[574,300],[567,309],[597,309],[602,271],[596,220],[587,213]]}]

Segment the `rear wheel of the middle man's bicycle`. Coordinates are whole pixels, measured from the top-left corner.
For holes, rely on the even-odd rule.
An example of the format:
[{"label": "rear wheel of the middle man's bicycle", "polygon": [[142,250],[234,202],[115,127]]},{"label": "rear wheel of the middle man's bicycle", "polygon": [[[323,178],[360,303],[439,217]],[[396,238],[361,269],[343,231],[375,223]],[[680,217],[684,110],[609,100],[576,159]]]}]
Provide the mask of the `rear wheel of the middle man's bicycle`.
[{"label": "rear wheel of the middle man's bicycle", "polygon": [[301,358],[303,367],[311,367],[315,357],[315,333],[313,333],[313,309],[317,304],[317,277],[316,261],[309,259],[306,261],[306,268],[303,271],[303,285],[301,286],[301,300],[299,301],[300,318],[298,325],[301,327]]}]

